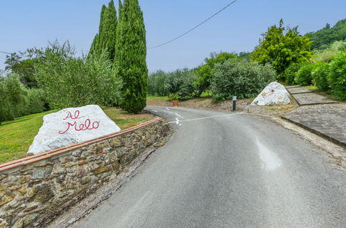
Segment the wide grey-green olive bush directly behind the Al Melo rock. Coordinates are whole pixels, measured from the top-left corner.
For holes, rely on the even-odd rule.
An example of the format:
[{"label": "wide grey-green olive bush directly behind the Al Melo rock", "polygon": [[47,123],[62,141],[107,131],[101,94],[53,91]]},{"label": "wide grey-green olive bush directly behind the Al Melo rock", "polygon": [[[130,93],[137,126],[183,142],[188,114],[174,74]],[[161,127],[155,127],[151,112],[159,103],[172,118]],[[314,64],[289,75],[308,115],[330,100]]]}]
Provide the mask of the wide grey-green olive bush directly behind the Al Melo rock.
[{"label": "wide grey-green olive bush directly behind the Al Melo rock", "polygon": [[68,43],[57,42],[33,53],[35,79],[52,108],[114,106],[121,101],[122,82],[106,55],[76,58]]}]

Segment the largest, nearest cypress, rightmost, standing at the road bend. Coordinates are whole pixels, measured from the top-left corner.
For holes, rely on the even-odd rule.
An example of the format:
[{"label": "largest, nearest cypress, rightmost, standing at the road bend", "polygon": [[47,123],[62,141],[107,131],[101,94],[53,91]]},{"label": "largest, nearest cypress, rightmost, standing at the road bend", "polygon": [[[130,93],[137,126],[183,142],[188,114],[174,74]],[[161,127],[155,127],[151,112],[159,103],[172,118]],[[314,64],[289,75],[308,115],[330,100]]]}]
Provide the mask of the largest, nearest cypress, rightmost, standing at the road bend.
[{"label": "largest, nearest cypress, rightmost, standing at the road bend", "polygon": [[138,0],[119,1],[114,66],[123,79],[120,106],[138,113],[146,106],[148,68],[146,66],[146,28]]}]

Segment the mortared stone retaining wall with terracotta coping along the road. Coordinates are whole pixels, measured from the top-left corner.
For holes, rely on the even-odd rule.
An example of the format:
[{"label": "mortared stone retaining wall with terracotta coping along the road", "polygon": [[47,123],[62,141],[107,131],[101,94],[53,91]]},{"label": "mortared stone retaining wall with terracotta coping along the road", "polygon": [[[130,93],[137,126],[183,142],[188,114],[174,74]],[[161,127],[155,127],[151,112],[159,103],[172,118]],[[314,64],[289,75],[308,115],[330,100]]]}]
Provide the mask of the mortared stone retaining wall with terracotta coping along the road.
[{"label": "mortared stone retaining wall with terracotta coping along the road", "polygon": [[169,129],[161,118],[0,165],[0,227],[44,226],[114,178]]}]

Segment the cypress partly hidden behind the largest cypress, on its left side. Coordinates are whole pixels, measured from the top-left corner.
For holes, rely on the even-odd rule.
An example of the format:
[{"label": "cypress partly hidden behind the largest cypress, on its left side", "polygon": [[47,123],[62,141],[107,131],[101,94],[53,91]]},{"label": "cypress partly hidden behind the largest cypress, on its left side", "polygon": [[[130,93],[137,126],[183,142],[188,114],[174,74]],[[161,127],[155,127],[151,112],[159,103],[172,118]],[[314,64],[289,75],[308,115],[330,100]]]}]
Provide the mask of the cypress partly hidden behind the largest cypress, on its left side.
[{"label": "cypress partly hidden behind the largest cypress, on its left side", "polygon": [[114,61],[117,25],[118,19],[112,0],[108,7],[102,6],[98,34],[94,37],[89,55],[101,56],[103,52],[106,52],[108,59]]}]

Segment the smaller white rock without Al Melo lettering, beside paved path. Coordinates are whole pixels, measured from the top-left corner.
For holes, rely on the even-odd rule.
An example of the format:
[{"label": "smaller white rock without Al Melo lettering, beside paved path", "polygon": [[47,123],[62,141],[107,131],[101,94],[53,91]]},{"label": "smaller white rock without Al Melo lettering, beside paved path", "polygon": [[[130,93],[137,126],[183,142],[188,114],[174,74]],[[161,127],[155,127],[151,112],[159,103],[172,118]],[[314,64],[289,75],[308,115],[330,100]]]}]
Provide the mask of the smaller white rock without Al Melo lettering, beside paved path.
[{"label": "smaller white rock without Al Melo lettering, beside paved path", "polygon": [[290,97],[286,88],[277,82],[272,82],[254,99],[251,105],[278,105],[290,104]]}]

